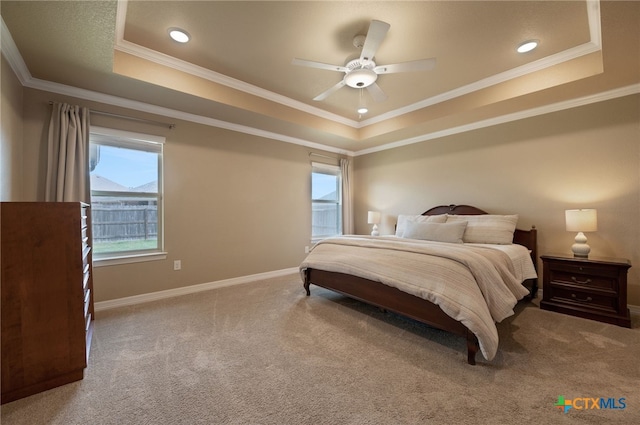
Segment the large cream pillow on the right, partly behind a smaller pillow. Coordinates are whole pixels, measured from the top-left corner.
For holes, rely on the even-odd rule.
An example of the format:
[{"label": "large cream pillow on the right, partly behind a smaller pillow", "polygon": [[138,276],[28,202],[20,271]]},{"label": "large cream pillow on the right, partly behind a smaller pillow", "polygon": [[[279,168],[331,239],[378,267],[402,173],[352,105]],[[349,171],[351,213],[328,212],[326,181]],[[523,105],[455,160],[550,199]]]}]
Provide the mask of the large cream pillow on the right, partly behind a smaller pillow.
[{"label": "large cream pillow on the right, partly behind a smaller pillow", "polygon": [[455,221],[467,222],[464,242],[509,245],[513,243],[518,215],[447,215],[447,223]]}]

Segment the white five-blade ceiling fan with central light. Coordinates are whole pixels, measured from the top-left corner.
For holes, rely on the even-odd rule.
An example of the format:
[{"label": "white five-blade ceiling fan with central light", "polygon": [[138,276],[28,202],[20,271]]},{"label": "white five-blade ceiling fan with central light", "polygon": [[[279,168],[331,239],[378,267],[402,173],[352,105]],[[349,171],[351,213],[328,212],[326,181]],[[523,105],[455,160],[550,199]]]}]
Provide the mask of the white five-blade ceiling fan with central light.
[{"label": "white five-blade ceiling fan with central light", "polygon": [[346,85],[355,89],[366,88],[376,102],[381,102],[385,100],[387,96],[376,83],[378,75],[397,72],[427,71],[436,65],[435,58],[420,59],[391,65],[376,65],[373,58],[378,47],[380,47],[380,43],[382,43],[382,40],[387,35],[387,31],[389,31],[390,26],[391,25],[386,22],[377,21],[375,19],[372,20],[366,37],[363,35],[357,35],[353,39],[354,46],[362,48],[360,58],[353,59],[347,62],[344,66],[330,65],[306,59],[293,59],[291,62],[293,65],[344,72],[345,74],[338,84],[320,93],[314,97],[313,100],[324,100]]}]

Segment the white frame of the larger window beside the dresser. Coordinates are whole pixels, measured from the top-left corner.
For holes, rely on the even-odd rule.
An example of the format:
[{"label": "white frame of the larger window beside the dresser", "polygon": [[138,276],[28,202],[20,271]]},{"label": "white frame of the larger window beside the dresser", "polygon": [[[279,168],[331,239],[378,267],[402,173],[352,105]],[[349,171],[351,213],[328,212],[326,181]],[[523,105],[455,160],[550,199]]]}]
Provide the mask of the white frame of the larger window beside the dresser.
[{"label": "white frame of the larger window beside the dresser", "polygon": [[133,149],[139,151],[153,152],[158,154],[158,192],[111,192],[94,191],[91,195],[97,196],[117,196],[117,197],[147,197],[157,200],[158,215],[158,246],[156,249],[140,251],[120,251],[110,253],[93,254],[93,265],[96,267],[110,266],[116,264],[138,263],[144,261],[164,260],[167,253],[164,251],[164,184],[163,184],[163,153],[165,138],[151,134],[135,133],[113,128],[94,127],[90,129],[90,145],[98,143],[103,146],[113,146],[119,148]]}]

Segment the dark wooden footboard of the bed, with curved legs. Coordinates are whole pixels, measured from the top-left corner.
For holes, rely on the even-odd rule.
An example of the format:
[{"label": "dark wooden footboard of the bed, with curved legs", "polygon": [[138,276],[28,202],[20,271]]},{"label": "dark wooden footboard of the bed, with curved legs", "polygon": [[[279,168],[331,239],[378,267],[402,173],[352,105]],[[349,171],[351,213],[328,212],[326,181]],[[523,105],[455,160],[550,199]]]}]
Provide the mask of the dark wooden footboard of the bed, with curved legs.
[{"label": "dark wooden footboard of the bed, with curved legs", "polygon": [[321,286],[370,305],[398,313],[435,328],[452,332],[467,341],[467,363],[476,364],[478,339],[461,322],[445,314],[440,307],[425,299],[407,294],[399,289],[344,273],[307,269],[304,289],[311,295],[309,285]]}]

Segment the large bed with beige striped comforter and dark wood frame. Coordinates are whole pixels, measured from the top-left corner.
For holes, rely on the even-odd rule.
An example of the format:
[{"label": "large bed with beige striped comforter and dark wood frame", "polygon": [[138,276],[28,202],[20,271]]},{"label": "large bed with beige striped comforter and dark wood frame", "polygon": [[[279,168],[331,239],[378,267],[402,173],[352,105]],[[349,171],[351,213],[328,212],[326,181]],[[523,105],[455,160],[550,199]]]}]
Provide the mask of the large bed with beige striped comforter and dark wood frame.
[{"label": "large bed with beige striped comforter and dark wood frame", "polygon": [[[484,217],[477,217],[481,215]],[[411,219],[412,223],[408,224],[408,221],[403,223],[407,226],[403,230],[404,235],[409,232],[409,227],[414,231],[416,228],[425,229],[427,226],[430,226],[429,229],[436,228],[438,231],[455,227],[457,229],[455,231],[459,232],[459,228],[463,225],[453,222],[464,221],[466,223],[464,226],[469,229],[464,230],[466,236],[471,234],[472,226],[475,226],[469,223],[477,222],[479,219],[507,216],[490,215],[469,205],[447,205],[431,208],[421,217],[414,217],[417,218]],[[517,221],[517,216],[515,217]],[[422,219],[427,222],[436,220],[444,224],[437,226],[414,224],[414,220]],[[449,226],[450,222],[452,224]],[[399,220],[398,227],[400,224]],[[447,243],[451,241],[442,242],[433,241],[433,239],[423,241],[401,238],[399,235],[402,236],[397,229],[396,234],[389,237],[344,236],[330,238],[316,244],[300,265],[306,295],[311,295],[311,284],[336,291],[383,310],[395,312],[466,338],[467,362],[471,365],[476,364],[476,354],[479,350],[485,358],[491,360],[497,350],[495,323],[513,314],[513,310],[510,309],[518,300],[536,296],[538,287],[536,228],[532,227],[529,230],[513,228],[512,243],[505,242],[503,246],[466,243],[467,240],[464,241],[465,243]],[[500,237],[504,239],[504,235]],[[459,240],[456,239],[456,241]],[[471,239],[469,241],[474,242]],[[509,248],[510,245],[511,248]],[[492,248],[502,248],[502,250]],[[467,254],[462,252],[466,249],[471,250],[469,258],[473,258],[473,261],[467,260]],[[513,271],[512,254],[502,252],[509,249],[519,250],[520,257],[524,252],[524,256],[527,257],[528,269],[518,277]],[[485,256],[488,259],[484,258]],[[434,264],[427,264],[427,259],[429,263],[434,262]],[[488,265],[487,261],[494,260],[496,263],[511,265],[508,267],[502,264]],[[451,277],[450,282],[443,284],[444,277],[439,274],[431,277],[431,274],[435,274],[436,271],[440,273],[445,263],[452,265],[452,271],[444,272],[443,276],[448,276],[450,273],[455,278]],[[415,265],[419,266],[417,270],[412,269]],[[465,268],[469,270],[465,271]],[[477,284],[469,283],[469,279],[477,281]],[[515,284],[514,279],[517,280]],[[458,280],[463,286],[457,287],[453,284]],[[494,284],[500,280],[508,282]],[[420,287],[423,284],[432,285],[431,281],[434,282],[435,289]],[[496,288],[501,295],[491,295],[493,288]],[[515,302],[508,294],[509,291],[513,293]],[[464,298],[461,304],[452,304],[452,292]],[[502,297],[506,301],[495,301]],[[496,307],[492,305],[494,303],[500,305]],[[493,309],[497,309],[497,312]]]}]

